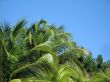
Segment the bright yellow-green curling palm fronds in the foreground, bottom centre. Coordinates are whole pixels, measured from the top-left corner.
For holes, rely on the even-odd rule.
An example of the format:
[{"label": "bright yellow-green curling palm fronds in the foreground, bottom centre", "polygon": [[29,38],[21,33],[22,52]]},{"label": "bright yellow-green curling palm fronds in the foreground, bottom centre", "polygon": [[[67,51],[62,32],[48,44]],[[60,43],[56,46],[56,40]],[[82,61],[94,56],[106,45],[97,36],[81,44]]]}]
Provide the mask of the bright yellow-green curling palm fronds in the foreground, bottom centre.
[{"label": "bright yellow-green curling palm fronds in the foreground, bottom centre", "polygon": [[37,62],[25,65],[14,71],[12,76],[17,75],[20,71],[24,73],[26,70],[30,70],[24,78],[15,79],[11,82],[19,80],[22,82],[85,82],[82,70],[76,63],[73,65],[73,62],[68,61],[60,65],[56,64],[56,61],[52,54],[46,54]]}]

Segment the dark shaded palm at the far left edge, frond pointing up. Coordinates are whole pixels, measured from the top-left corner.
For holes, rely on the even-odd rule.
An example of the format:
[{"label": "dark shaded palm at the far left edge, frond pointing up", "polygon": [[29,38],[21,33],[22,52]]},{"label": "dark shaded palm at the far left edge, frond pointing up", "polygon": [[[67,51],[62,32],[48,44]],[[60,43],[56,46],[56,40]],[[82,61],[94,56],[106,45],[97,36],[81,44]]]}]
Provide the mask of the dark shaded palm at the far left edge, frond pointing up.
[{"label": "dark shaded palm at the far left edge, frond pointing up", "polygon": [[[13,30],[7,24],[0,25],[0,81],[8,81],[13,64],[17,61],[13,51],[18,46],[18,33],[22,31],[25,21],[18,22]],[[15,51],[16,52],[16,51]]]}]

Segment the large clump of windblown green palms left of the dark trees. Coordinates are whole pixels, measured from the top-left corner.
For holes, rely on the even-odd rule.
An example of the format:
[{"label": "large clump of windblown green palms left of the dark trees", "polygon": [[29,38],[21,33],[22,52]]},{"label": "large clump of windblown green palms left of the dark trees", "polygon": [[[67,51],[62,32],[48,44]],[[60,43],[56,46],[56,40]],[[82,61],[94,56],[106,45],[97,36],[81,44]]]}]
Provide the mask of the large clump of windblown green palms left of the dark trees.
[{"label": "large clump of windblown green palms left of the dark trees", "polygon": [[17,78],[39,82],[85,80],[74,57],[79,57],[83,50],[71,41],[69,33],[42,19],[29,28],[25,24],[21,20],[14,27],[0,25],[1,82]]}]

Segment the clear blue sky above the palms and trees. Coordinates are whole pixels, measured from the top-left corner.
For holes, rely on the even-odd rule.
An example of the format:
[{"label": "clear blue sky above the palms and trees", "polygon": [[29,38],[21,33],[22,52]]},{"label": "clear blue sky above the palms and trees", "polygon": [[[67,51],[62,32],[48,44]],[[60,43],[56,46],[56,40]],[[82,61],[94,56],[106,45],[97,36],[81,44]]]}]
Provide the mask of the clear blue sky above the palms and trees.
[{"label": "clear blue sky above the palms and trees", "polygon": [[0,0],[0,21],[15,24],[22,17],[64,25],[93,57],[110,59],[110,0]]}]

